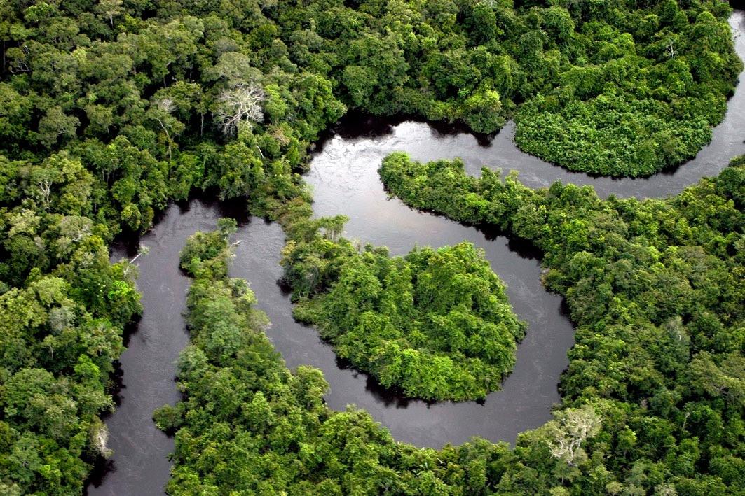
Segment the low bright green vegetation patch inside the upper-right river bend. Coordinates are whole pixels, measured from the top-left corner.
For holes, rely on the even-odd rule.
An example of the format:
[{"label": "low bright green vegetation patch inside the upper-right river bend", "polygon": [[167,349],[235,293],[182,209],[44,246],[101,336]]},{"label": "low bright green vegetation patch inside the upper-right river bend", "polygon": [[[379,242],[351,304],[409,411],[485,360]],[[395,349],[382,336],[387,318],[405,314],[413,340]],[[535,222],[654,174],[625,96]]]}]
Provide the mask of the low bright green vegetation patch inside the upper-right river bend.
[{"label": "low bright green vegetation patch inside the upper-right river bend", "polygon": [[[593,77],[578,77],[583,83],[574,92],[590,91]],[[711,139],[703,116],[673,116],[670,108],[653,99],[592,94],[586,101],[569,101],[560,108],[544,105],[548,100],[536,97],[522,106],[515,140],[524,151],[571,170],[651,175],[691,158]]]}]

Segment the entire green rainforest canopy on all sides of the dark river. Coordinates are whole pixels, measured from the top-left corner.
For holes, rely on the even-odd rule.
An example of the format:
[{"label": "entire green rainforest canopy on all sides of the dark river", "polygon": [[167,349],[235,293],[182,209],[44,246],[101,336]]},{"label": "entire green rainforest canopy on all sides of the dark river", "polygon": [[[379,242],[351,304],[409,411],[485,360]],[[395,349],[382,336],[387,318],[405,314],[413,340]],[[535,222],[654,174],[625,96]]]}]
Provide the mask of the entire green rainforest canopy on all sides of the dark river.
[{"label": "entire green rainforest canopy on all sides of the dark river", "polygon": [[[314,143],[351,110],[484,134],[513,119],[516,144],[546,161],[653,175],[723,119],[742,69],[731,13],[718,0],[1,2],[0,493],[81,494],[110,456],[101,416],[142,304],[136,260],[111,263],[109,247],[195,194],[282,225],[297,318],[384,387],[498,389],[530,329],[489,263],[467,243],[390,257],[345,239],[343,218],[314,218]],[[323,374],[285,367],[253,293],[227,276],[224,219],[180,260],[183,402],[154,413],[175,435],[168,494],[745,492],[744,158],[642,201],[405,153],[380,174],[412,207],[540,251],[577,324],[553,419],[514,446],[434,450],[331,410]]]}]

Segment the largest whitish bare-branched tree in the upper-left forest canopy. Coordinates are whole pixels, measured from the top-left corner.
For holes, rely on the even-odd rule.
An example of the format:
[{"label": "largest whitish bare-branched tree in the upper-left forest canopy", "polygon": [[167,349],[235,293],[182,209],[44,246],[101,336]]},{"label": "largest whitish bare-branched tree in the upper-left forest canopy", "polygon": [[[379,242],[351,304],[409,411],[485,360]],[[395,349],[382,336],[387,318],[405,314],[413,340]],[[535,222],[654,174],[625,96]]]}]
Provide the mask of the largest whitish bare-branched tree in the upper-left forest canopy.
[{"label": "largest whitish bare-branched tree in the upper-left forest canopy", "polygon": [[243,122],[261,122],[261,102],[266,100],[264,89],[256,83],[238,83],[223,90],[218,97],[215,112],[222,132],[226,136],[235,135]]}]

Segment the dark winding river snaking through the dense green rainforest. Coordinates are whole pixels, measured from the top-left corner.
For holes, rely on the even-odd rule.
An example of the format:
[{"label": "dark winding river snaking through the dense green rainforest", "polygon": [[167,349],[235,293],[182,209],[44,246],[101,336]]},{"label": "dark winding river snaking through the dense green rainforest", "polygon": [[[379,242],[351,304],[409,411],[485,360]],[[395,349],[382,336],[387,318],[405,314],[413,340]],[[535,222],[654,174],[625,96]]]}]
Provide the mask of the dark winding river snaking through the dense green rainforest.
[{"label": "dark winding river snaking through the dense green rainforest", "polygon": [[[745,57],[745,13],[738,10],[730,23],[738,54]],[[127,350],[120,361],[118,408],[106,419],[115,454],[94,472],[88,494],[162,493],[169,476],[167,455],[174,443],[156,429],[151,416],[155,408],[179,399],[174,361],[188,343],[182,317],[188,278],[178,269],[178,253],[191,233],[215,228],[221,216],[241,221],[235,238],[244,242],[236,248],[232,277],[250,281],[259,308],[272,322],[267,335],[288,366],[311,364],[323,370],[331,386],[326,396],[331,408],[342,410],[355,404],[369,411],[396,439],[435,448],[472,436],[514,442],[519,432],[547,421],[551,406],[559,402],[557,383],[568,364],[566,351],[574,342],[574,329],[562,298],[546,292],[539,283],[539,254],[504,236],[411,210],[398,199],[388,199],[376,172],[381,159],[394,150],[404,150],[422,161],[460,156],[469,173],[478,174],[483,166],[519,170],[522,182],[531,187],[561,180],[590,184],[601,196],[669,196],[703,176],[716,175],[729,158],[745,153],[745,89],[739,85],[729,100],[726,118],[714,129],[711,144],[676,170],[650,178],[593,178],[570,173],[520,152],[513,135],[510,124],[484,143],[467,133],[426,123],[349,117],[319,144],[306,176],[314,190],[315,215],[349,216],[348,237],[386,245],[392,254],[405,254],[413,245],[441,246],[463,239],[484,248],[492,268],[507,283],[517,314],[528,323],[516,367],[502,390],[481,403],[428,404],[382,389],[365,374],[337,361],[315,329],[293,320],[289,296],[276,283],[282,273],[279,254],[285,242],[279,225],[240,219],[241,209],[231,211],[216,203],[194,200],[174,204],[152,231],[133,240],[150,248],[138,260],[138,286],[145,311],[127,337]],[[133,257],[131,247],[115,246],[112,260],[121,257]]]}]

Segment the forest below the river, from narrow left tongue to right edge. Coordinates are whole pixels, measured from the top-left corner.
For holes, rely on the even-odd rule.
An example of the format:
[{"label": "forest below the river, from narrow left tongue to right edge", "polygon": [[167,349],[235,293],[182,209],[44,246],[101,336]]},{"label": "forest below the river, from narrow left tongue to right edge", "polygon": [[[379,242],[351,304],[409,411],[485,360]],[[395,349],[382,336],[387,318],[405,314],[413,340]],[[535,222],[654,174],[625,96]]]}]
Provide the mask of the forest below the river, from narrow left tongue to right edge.
[{"label": "forest below the river, from narrow left tongue to right edge", "polygon": [[[194,277],[193,344],[179,364],[186,400],[155,416],[176,431],[169,494],[745,490],[745,158],[679,196],[644,202],[483,174],[405,154],[381,167],[406,202],[498,225],[545,252],[545,282],[579,324],[554,419],[515,448],[473,439],[436,451],[395,442],[363,411],[329,410],[322,374],[286,369],[250,309],[253,294],[227,278],[234,224],[222,221],[221,231],[192,236],[181,257]],[[306,218],[288,231],[295,242],[335,244],[341,222]],[[303,258],[321,267],[337,263],[337,251]]]}]

